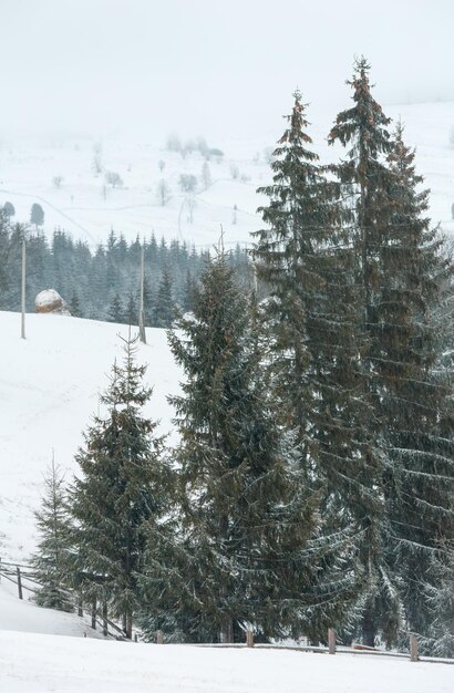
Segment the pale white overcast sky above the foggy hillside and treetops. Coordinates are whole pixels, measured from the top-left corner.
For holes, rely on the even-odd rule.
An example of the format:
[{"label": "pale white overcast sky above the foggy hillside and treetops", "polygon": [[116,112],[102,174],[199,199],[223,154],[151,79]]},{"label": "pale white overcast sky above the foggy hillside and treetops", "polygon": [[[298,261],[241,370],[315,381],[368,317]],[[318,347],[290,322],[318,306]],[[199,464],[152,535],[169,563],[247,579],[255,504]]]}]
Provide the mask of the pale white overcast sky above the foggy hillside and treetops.
[{"label": "pale white overcast sky above the foggy hillside and treetops", "polygon": [[454,100],[453,0],[0,0],[0,134],[246,136],[301,89],[349,105],[353,55],[383,103]]}]

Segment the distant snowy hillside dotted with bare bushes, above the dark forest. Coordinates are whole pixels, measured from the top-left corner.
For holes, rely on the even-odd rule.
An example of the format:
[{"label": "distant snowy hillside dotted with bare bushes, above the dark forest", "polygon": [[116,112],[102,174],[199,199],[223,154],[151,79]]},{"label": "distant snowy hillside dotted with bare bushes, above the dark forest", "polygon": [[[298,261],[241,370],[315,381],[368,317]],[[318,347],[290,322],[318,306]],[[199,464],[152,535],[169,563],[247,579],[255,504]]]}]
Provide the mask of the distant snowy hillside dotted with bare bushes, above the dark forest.
[{"label": "distant snowy hillside dotted with bare bushes, above the dark forest", "polygon": [[[345,93],[345,106],[348,97]],[[432,190],[433,221],[441,221],[446,231],[454,232],[451,218],[454,102],[406,104],[384,110],[394,121],[402,118],[405,141],[417,148],[417,170]],[[318,114],[317,107],[310,106],[308,117],[313,123],[310,133],[321,159],[333,162],[343,156],[341,148],[329,148],[326,143],[336,113]],[[239,139],[220,143],[225,156],[221,161],[211,157],[210,183],[203,180],[205,159],[199,152],[194,151],[183,158],[156,142],[138,143],[120,137],[100,141],[90,136],[55,136],[41,141],[4,138],[0,146],[0,204],[11,201],[17,210],[16,219],[29,221],[32,204],[39,203],[44,210],[43,228],[48,236],[55,227],[62,227],[91,246],[105,241],[113,227],[127,240],[137,234],[149,237],[154,231],[157,237],[179,238],[206,247],[217,241],[220,225],[227,246],[246,245],[250,242],[250,231],[260,225],[256,209],[261,200],[256,189],[270,177],[265,149],[274,147],[283,127],[277,114],[274,133],[261,132],[258,123],[254,143]],[[93,169],[95,156],[103,167],[97,175]],[[124,185],[115,188],[106,185],[107,170],[118,173]],[[192,201],[190,196],[179,189],[182,174],[197,177]],[[56,187],[54,179],[59,177],[62,179]],[[172,195],[165,206],[159,204],[156,194],[159,180],[165,180]]]}]

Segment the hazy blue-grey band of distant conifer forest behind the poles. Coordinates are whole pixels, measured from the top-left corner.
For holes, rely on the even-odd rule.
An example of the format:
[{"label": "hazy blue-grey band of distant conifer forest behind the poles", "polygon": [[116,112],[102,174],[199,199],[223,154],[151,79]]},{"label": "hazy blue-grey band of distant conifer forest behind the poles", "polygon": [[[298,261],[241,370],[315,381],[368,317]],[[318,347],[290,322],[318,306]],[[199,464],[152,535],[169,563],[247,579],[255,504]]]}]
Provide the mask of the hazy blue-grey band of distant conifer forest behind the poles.
[{"label": "hazy blue-grey band of distant conifer forest behind the poles", "polygon": [[[141,254],[145,256],[144,321],[149,327],[171,325],[176,309],[192,310],[193,289],[209,257],[207,249],[178,240],[137,238],[127,242],[114,230],[95,250],[55,229],[49,241],[42,231],[11,226],[0,213],[0,310],[21,306],[21,247],[27,238],[27,311],[35,296],[55,289],[72,316],[121,323],[137,323]],[[237,246],[229,254],[240,282],[249,283],[249,262]]]}]

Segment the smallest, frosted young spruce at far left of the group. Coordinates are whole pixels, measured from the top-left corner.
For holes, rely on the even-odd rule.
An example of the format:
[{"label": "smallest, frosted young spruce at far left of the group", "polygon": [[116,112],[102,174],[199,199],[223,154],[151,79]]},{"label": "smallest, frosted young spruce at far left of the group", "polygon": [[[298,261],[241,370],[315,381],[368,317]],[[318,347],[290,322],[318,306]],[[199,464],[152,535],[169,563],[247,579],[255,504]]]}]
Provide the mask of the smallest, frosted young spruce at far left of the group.
[{"label": "smallest, frosted young spruce at far left of the group", "polygon": [[35,513],[40,541],[31,559],[35,580],[40,585],[34,600],[40,607],[73,611],[73,601],[65,589],[69,548],[66,494],[64,477],[54,459],[44,477],[44,487],[41,509]]}]

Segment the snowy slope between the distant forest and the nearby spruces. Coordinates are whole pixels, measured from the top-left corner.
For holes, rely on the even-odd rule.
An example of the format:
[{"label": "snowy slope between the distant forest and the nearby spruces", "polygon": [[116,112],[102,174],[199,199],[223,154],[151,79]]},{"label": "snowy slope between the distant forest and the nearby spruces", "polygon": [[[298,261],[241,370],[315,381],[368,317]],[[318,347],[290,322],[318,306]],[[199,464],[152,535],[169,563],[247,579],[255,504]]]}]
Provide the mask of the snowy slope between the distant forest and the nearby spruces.
[{"label": "snowy slope between the distant forest and the nearby spruces", "polygon": [[[0,557],[27,560],[35,546],[33,510],[43,492],[43,474],[54,451],[68,480],[82,431],[97,412],[115,358],[118,333],[127,328],[52,314],[0,312]],[[147,329],[137,359],[148,363],[154,386],[148,413],[171,430],[166,395],[177,392],[178,371],[164,330]]]}]

